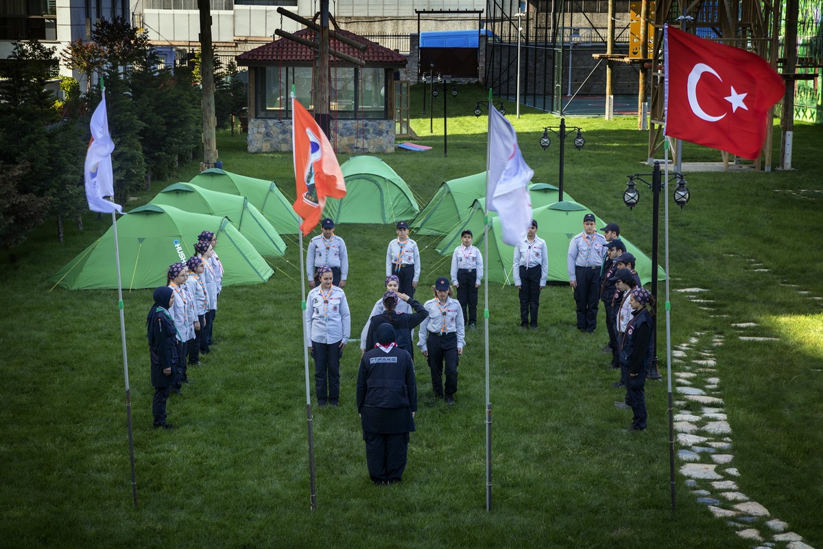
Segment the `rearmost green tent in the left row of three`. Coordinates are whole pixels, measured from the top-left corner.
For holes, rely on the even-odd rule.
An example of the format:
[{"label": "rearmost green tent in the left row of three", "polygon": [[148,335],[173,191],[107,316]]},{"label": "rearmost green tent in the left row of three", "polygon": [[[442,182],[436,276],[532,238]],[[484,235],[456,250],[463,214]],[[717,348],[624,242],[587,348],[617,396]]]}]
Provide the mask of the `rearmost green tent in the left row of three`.
[{"label": "rearmost green tent in the left row of three", "polygon": [[300,221],[291,207],[291,201],[280,192],[274,181],[212,168],[195,175],[188,183],[218,193],[249,198],[249,202],[260,210],[281,235],[296,235],[300,230]]}]

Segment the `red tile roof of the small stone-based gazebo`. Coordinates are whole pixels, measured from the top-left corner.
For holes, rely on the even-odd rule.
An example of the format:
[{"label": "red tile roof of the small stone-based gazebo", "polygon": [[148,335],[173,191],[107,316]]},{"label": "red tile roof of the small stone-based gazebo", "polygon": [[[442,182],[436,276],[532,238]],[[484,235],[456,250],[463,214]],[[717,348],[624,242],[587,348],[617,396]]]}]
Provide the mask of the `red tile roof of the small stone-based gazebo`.
[{"label": "red tile roof of the small stone-based gazebo", "polygon": [[[330,40],[330,47],[336,49],[343,54],[349,54],[352,57],[362,59],[367,66],[375,67],[405,67],[407,58],[392,49],[384,48],[376,42],[366,40],[358,35],[355,35],[347,30],[337,30],[341,35],[351,40],[356,40],[361,44],[369,46],[365,51],[352,48],[348,44],[343,44],[338,40]],[[297,36],[307,40],[314,40],[316,34],[314,30],[303,29],[294,33]],[[237,56],[237,64],[239,65],[272,65],[279,63],[286,64],[305,64],[314,61],[315,53],[309,47],[293,42],[286,38],[274,40],[269,44],[263,44],[259,48],[251,49],[244,54]],[[332,57],[332,63],[346,63],[341,59]],[[347,64],[347,63],[346,63]]]}]

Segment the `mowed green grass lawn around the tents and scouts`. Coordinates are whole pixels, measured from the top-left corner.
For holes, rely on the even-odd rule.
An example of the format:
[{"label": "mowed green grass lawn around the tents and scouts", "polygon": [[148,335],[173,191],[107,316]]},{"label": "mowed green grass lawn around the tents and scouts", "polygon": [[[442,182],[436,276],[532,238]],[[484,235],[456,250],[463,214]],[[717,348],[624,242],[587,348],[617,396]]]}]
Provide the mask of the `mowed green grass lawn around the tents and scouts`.
[{"label": "mowed green grass lawn around the tents and scouts", "polygon": [[[411,185],[421,207],[445,179],[485,169],[486,116],[475,119],[472,109],[486,94],[477,86],[459,89],[449,102],[448,157],[442,119],[435,119],[430,136],[428,117],[419,115],[412,123],[418,142],[435,148],[380,156]],[[413,115],[419,97],[416,88]],[[506,109],[513,113],[514,105]],[[537,142],[542,127],[559,120],[521,110],[521,119],[509,119],[534,180],[556,184],[558,143],[553,139],[542,151]],[[631,212],[621,202],[625,175],[650,172],[640,164],[648,134],[634,129],[635,119],[567,122],[583,126],[586,147],[567,147],[566,189],[598,216],[620,223],[648,252],[651,193],[640,188],[641,202]],[[823,226],[816,156],[823,140],[820,127],[798,124],[795,131],[793,172],[686,174],[691,202],[682,211],[672,204],[670,212],[672,287],[709,289],[716,312],[672,293],[672,342],[695,332],[706,334],[700,345],[714,333],[725,336],[715,351],[740,489],[820,547],[823,308],[797,290],[823,294],[816,259],[816,230]],[[226,169],[274,179],[293,197],[291,156],[249,155],[244,139],[220,135]],[[719,158],[700,147],[685,150],[687,161]],[[196,171],[194,164],[183,166],[127,207]],[[517,291],[490,286],[491,513],[481,329],[467,334],[455,407],[435,401],[428,368],[416,355],[417,431],[404,482],[385,488],[372,486],[365,468],[354,406],[360,353],[352,342],[342,362],[342,406],[314,411],[318,508],[309,510],[294,239],[287,239],[285,258],[272,259],[276,272],[266,284],[225,288],[215,351],[190,370],[195,384],[169,402],[177,430],[151,428],[144,329],[151,291],[125,292],[135,510],[116,292],[52,290],[45,281],[110,226],[109,218],[94,214],[84,221],[86,230],[69,227],[63,244],[44,226],[0,258],[3,546],[751,547],[696,503],[679,475],[672,514],[665,383],[647,384],[649,430],[622,435],[629,416],[611,405],[621,393],[608,388],[617,376],[599,351],[606,339],[602,313],[594,337],[577,333],[568,286],[543,292],[536,332],[517,327]],[[351,256],[346,295],[356,336],[382,294],[385,246],[394,230],[340,226],[337,232]],[[435,254],[436,239],[417,240],[424,249],[417,295],[423,299],[449,263]],[[663,235],[661,261],[662,247]],[[749,270],[748,258],[770,272]],[[751,335],[779,341],[740,341],[742,332],[731,324],[750,321],[759,324]],[[664,363],[663,315],[658,341]]]}]

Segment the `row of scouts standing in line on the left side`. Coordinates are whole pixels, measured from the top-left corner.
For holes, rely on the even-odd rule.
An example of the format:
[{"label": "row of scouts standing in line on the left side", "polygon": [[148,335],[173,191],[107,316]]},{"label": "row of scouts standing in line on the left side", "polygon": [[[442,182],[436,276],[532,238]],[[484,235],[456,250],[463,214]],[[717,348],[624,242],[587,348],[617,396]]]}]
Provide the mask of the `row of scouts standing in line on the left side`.
[{"label": "row of scouts standing in line on the left side", "polygon": [[217,298],[223,265],[214,251],[215,234],[204,230],[194,244],[195,254],[173,263],[166,286],[154,291],[154,305],[146,316],[151,358],[151,385],[155,388],[151,412],[156,428],[172,429],[165,421],[170,393],[180,393],[188,380],[188,365],[199,365],[201,354],[211,352]]}]

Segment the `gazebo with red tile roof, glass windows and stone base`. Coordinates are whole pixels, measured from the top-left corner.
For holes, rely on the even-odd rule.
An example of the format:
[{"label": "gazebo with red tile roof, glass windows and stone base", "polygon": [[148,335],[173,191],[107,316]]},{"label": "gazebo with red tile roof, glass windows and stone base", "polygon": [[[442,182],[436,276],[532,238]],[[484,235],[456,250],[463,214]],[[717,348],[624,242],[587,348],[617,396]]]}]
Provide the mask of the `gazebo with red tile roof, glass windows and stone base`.
[{"label": "gazebo with red tile roof, glass windows and stone base", "polygon": [[[407,58],[346,30],[337,33],[367,48],[329,40],[330,49],[365,63],[358,67],[329,58],[329,140],[338,152],[393,151],[394,72],[406,66]],[[316,35],[309,29],[294,34],[306,40]],[[291,86],[296,100],[313,110],[316,51],[281,38],[236,59],[249,67],[249,152],[291,151]]]}]

